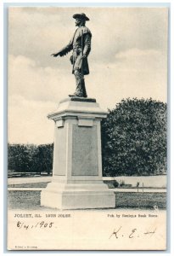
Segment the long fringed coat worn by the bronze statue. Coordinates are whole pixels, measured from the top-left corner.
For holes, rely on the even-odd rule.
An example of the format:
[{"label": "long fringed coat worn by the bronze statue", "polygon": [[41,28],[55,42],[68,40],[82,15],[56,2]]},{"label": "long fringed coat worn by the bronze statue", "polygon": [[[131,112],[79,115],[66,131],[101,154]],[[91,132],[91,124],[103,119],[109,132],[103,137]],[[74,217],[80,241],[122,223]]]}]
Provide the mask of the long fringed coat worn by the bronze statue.
[{"label": "long fringed coat worn by the bronze statue", "polygon": [[91,38],[92,33],[87,26],[80,26],[76,29],[70,43],[59,51],[59,55],[63,56],[70,52],[70,50],[73,50],[73,53],[70,56],[70,61],[73,65],[72,73],[77,69],[80,69],[83,75],[87,75],[89,73],[87,58],[82,59],[82,55],[89,55],[91,51]]}]

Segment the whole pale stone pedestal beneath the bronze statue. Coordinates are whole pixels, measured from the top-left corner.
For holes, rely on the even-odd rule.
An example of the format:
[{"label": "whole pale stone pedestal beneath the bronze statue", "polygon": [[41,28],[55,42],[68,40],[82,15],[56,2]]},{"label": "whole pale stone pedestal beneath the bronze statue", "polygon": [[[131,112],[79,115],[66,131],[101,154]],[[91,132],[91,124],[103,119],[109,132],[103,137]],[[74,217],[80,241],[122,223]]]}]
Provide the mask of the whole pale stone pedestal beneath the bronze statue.
[{"label": "whole pale stone pedestal beneath the bronze statue", "polygon": [[102,180],[101,119],[95,99],[69,98],[48,115],[55,122],[53,180],[41,205],[59,209],[115,207],[115,193]]}]

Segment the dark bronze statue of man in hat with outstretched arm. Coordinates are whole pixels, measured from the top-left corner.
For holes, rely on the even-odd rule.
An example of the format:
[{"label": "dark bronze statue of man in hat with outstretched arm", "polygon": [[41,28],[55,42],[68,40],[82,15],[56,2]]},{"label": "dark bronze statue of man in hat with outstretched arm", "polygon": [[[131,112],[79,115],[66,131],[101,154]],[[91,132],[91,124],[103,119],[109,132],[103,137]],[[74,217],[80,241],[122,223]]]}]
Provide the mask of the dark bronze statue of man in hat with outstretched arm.
[{"label": "dark bronze statue of man in hat with outstretched arm", "polygon": [[76,26],[78,26],[78,28],[72,40],[70,40],[70,43],[63,49],[60,49],[59,52],[52,55],[53,57],[62,57],[70,50],[73,50],[70,56],[70,62],[73,65],[72,73],[74,73],[76,78],[76,92],[69,96],[87,97],[84,75],[89,74],[87,56],[91,50],[92,33],[87,26],[85,26],[86,21],[89,20],[85,14],[76,14],[73,15],[73,18],[76,19]]}]

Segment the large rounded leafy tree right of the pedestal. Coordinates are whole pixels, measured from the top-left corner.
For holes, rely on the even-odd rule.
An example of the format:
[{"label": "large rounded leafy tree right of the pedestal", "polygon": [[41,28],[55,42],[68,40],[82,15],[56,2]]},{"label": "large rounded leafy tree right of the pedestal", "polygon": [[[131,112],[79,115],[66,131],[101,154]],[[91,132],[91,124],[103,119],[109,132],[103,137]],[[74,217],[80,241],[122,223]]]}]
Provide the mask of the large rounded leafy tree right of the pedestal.
[{"label": "large rounded leafy tree right of the pedestal", "polygon": [[102,121],[104,176],[166,172],[166,103],[126,99]]}]

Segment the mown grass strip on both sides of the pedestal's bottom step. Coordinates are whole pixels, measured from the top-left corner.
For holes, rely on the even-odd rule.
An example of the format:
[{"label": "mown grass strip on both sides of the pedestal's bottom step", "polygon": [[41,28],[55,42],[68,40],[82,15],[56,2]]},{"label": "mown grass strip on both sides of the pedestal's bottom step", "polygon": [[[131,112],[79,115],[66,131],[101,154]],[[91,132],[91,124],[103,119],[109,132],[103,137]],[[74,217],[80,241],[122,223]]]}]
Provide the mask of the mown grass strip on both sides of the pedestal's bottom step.
[{"label": "mown grass strip on both sides of the pedestal's bottom step", "polygon": [[[8,191],[9,209],[36,210],[40,207],[41,191]],[[115,192],[116,208],[159,209],[166,208],[166,193]]]}]

